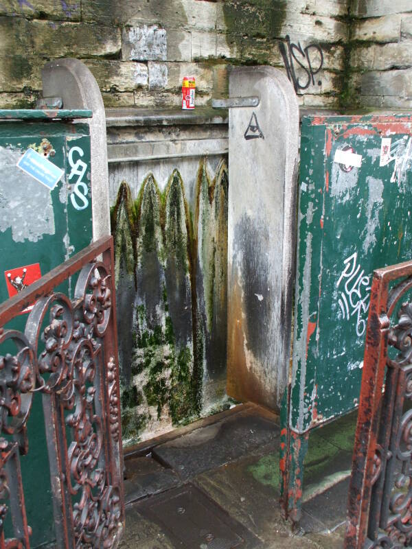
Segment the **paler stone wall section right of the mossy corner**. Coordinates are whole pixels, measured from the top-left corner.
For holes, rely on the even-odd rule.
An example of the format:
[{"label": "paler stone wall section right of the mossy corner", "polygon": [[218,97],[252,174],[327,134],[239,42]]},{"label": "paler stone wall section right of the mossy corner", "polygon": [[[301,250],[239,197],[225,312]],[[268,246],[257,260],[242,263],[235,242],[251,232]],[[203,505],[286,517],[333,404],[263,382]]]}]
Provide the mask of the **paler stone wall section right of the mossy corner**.
[{"label": "paler stone wall section right of the mossy corner", "polygon": [[354,0],[349,103],[412,107],[412,1]]}]

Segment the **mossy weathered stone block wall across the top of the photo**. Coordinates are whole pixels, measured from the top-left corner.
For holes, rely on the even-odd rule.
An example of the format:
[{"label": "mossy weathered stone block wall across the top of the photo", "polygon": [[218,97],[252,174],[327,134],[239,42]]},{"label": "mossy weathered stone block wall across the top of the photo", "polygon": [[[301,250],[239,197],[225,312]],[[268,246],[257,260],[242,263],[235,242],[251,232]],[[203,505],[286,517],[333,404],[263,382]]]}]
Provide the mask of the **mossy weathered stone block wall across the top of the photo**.
[{"label": "mossy weathered stone block wall across the top of the photo", "polygon": [[0,0],[0,107],[33,106],[45,61],[67,56],[106,106],[179,105],[185,75],[208,104],[229,63],[288,69],[306,106],[410,106],[412,1],[350,2]]}]

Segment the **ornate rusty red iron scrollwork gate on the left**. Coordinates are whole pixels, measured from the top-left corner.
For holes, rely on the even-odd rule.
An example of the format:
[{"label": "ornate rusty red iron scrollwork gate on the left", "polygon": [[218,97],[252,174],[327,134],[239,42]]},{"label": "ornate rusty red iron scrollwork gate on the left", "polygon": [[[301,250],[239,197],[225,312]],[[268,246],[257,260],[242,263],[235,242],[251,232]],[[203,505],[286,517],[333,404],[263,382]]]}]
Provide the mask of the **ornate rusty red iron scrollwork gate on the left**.
[{"label": "ornate rusty red iron scrollwork gate on the left", "polygon": [[[70,288],[70,277],[77,277],[73,300],[61,290]],[[43,398],[56,546],[110,548],[122,533],[112,285],[113,240],[105,237],[0,306],[0,353],[6,349],[0,355],[1,549],[30,547],[20,455],[30,456],[27,420],[37,392]],[[24,333],[7,327],[27,307],[32,310]],[[5,539],[8,515],[13,534]]]}]

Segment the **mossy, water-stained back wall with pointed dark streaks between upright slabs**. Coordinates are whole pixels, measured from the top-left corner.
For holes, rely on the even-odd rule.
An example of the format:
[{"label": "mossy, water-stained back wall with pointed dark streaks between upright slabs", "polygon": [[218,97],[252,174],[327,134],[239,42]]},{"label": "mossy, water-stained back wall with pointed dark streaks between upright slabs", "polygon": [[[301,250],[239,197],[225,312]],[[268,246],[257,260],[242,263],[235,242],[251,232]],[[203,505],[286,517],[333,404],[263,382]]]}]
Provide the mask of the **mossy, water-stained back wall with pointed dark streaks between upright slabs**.
[{"label": "mossy, water-stained back wall with pointed dark streaks between upright slabs", "polygon": [[229,407],[227,167],[198,167],[194,211],[174,170],[163,192],[148,174],[112,209],[124,443]]}]

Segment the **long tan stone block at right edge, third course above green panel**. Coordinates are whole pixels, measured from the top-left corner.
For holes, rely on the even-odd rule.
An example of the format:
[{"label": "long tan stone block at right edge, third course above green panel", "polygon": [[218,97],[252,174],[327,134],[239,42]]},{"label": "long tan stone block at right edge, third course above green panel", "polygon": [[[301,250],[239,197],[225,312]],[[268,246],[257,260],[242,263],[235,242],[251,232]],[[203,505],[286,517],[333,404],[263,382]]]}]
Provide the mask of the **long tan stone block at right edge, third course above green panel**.
[{"label": "long tan stone block at right edge, third course above green panel", "polygon": [[353,49],[351,66],[361,71],[412,67],[412,41],[370,44]]}]

